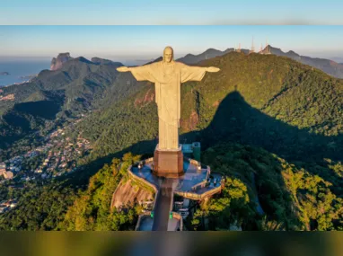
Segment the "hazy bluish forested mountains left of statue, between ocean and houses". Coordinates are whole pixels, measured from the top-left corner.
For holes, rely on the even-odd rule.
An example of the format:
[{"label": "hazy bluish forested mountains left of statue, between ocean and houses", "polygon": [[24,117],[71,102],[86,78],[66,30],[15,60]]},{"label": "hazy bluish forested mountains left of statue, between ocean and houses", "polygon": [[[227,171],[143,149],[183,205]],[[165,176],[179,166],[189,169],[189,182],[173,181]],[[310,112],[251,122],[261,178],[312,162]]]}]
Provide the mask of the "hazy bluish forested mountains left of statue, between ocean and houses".
[{"label": "hazy bluish forested mountains left of statue, between ocean and houses", "polygon": [[136,90],[133,76],[116,70],[123,66],[119,62],[69,54],[58,59],[57,70],[42,70],[29,83],[2,88],[2,96],[13,95],[13,100],[0,101],[0,147],[43,128],[47,119],[75,117]]}]

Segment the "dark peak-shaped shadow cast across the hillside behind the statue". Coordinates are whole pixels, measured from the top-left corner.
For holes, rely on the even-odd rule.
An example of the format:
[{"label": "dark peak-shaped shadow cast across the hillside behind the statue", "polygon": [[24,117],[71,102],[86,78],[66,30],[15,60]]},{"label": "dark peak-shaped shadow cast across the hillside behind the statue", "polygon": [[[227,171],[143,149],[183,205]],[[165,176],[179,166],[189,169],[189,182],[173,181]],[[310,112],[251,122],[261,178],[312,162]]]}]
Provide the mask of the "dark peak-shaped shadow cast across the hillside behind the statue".
[{"label": "dark peak-shaped shadow cast across the hillside behind the statue", "polygon": [[[180,135],[180,143],[184,141],[188,143],[199,141],[202,150],[224,143],[261,147],[288,162],[318,162],[323,158],[339,160],[339,152],[342,152],[342,137],[311,134],[307,129],[295,128],[271,118],[260,110],[252,108],[239,92],[227,94],[207,128]],[[141,158],[145,159],[153,156],[156,144],[157,139],[140,141],[115,154],[98,158],[84,166],[84,172],[75,172],[75,175],[71,175],[74,176],[71,180],[76,179],[80,181],[79,184],[85,185],[88,182],[84,179],[88,180],[104,163],[110,163],[113,157],[121,158],[123,154],[131,152],[142,154]],[[259,179],[258,175],[256,178]],[[285,184],[279,185],[286,191]],[[263,202],[261,206],[263,207]]]}]

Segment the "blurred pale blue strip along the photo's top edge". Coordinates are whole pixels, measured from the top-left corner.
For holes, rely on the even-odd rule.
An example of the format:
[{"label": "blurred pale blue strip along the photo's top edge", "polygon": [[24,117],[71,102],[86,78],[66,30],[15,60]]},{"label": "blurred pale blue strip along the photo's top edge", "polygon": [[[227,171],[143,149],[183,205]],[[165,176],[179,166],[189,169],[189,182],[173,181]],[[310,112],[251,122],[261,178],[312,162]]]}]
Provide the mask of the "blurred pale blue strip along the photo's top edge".
[{"label": "blurred pale blue strip along the photo's top edge", "polygon": [[341,0],[0,0],[1,24],[341,24]]}]

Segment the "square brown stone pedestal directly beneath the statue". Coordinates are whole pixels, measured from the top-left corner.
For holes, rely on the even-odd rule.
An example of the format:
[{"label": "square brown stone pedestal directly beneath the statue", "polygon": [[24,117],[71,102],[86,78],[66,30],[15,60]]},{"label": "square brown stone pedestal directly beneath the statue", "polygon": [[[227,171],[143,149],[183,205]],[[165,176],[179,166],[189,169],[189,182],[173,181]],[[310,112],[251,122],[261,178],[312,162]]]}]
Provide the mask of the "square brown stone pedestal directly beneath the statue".
[{"label": "square brown stone pedestal directly beneath the statue", "polygon": [[182,176],[184,172],[181,146],[178,149],[167,150],[158,149],[157,145],[154,150],[153,173],[156,176],[166,178],[178,178]]}]

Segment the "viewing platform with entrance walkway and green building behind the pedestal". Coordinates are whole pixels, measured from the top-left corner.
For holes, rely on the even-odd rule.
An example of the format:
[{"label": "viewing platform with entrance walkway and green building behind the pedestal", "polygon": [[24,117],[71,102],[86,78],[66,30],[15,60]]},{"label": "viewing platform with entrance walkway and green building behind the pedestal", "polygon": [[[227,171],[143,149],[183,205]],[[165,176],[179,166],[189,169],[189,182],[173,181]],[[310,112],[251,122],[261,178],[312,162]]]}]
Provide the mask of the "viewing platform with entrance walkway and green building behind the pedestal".
[{"label": "viewing platform with entrance walkway and green building behind the pedestal", "polygon": [[[179,167],[182,172],[176,177],[156,175],[154,157],[128,167],[131,179],[154,190],[151,206],[138,218],[137,231],[182,231],[183,218],[189,215],[189,199],[195,203],[221,192],[223,175],[211,173],[209,166],[186,156],[190,154],[200,159],[199,143],[182,145],[182,154]],[[168,164],[164,165],[168,167]],[[183,198],[183,203],[174,202],[175,196]]]}]

